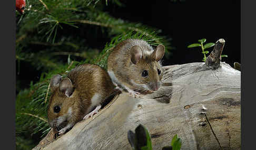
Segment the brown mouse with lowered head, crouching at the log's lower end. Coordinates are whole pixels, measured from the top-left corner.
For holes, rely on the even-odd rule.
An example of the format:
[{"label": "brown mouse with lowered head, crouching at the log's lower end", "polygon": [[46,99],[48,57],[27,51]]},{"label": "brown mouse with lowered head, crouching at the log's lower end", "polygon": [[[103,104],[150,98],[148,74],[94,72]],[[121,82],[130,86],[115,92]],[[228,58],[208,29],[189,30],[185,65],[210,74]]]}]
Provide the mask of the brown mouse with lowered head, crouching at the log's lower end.
[{"label": "brown mouse with lowered head, crouching at the log's lower end", "polygon": [[92,64],[75,67],[64,79],[54,75],[50,87],[48,123],[59,135],[97,113],[115,88],[109,74]]}]

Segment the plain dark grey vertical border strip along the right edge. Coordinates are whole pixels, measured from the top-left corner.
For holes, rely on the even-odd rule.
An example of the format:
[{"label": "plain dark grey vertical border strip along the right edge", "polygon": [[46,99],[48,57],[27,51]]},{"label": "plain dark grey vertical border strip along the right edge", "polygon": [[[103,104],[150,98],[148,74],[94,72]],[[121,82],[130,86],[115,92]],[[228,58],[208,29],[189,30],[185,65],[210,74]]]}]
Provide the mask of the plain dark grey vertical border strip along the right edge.
[{"label": "plain dark grey vertical border strip along the right edge", "polygon": [[255,6],[255,1],[241,1],[241,149],[255,147]]}]

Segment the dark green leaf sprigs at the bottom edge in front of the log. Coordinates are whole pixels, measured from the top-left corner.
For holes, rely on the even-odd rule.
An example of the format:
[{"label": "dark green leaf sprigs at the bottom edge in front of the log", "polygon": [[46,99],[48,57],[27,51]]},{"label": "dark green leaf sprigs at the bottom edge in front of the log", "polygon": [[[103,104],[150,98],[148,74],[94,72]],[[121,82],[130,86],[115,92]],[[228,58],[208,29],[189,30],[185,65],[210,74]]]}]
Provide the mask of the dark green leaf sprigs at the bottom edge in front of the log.
[{"label": "dark green leaf sprigs at the bottom edge in front of the log", "polygon": [[[146,127],[143,125],[138,125],[135,128],[135,133],[131,130],[127,133],[127,138],[134,150],[152,150],[151,136],[147,131]],[[180,150],[181,149],[181,139],[178,138],[178,134],[174,135],[172,138],[171,146],[165,146],[163,150]]]}]

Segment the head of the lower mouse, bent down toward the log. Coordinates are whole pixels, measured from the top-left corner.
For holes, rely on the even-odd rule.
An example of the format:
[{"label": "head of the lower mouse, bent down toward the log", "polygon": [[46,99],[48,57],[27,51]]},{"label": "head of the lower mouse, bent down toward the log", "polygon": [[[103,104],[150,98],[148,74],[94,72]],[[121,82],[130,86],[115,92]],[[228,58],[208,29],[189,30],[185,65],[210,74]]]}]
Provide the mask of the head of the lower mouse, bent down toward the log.
[{"label": "head of the lower mouse, bent down toward the log", "polygon": [[77,122],[81,113],[81,101],[69,78],[55,75],[51,79],[51,97],[47,110],[48,123],[60,130],[66,123]]}]

